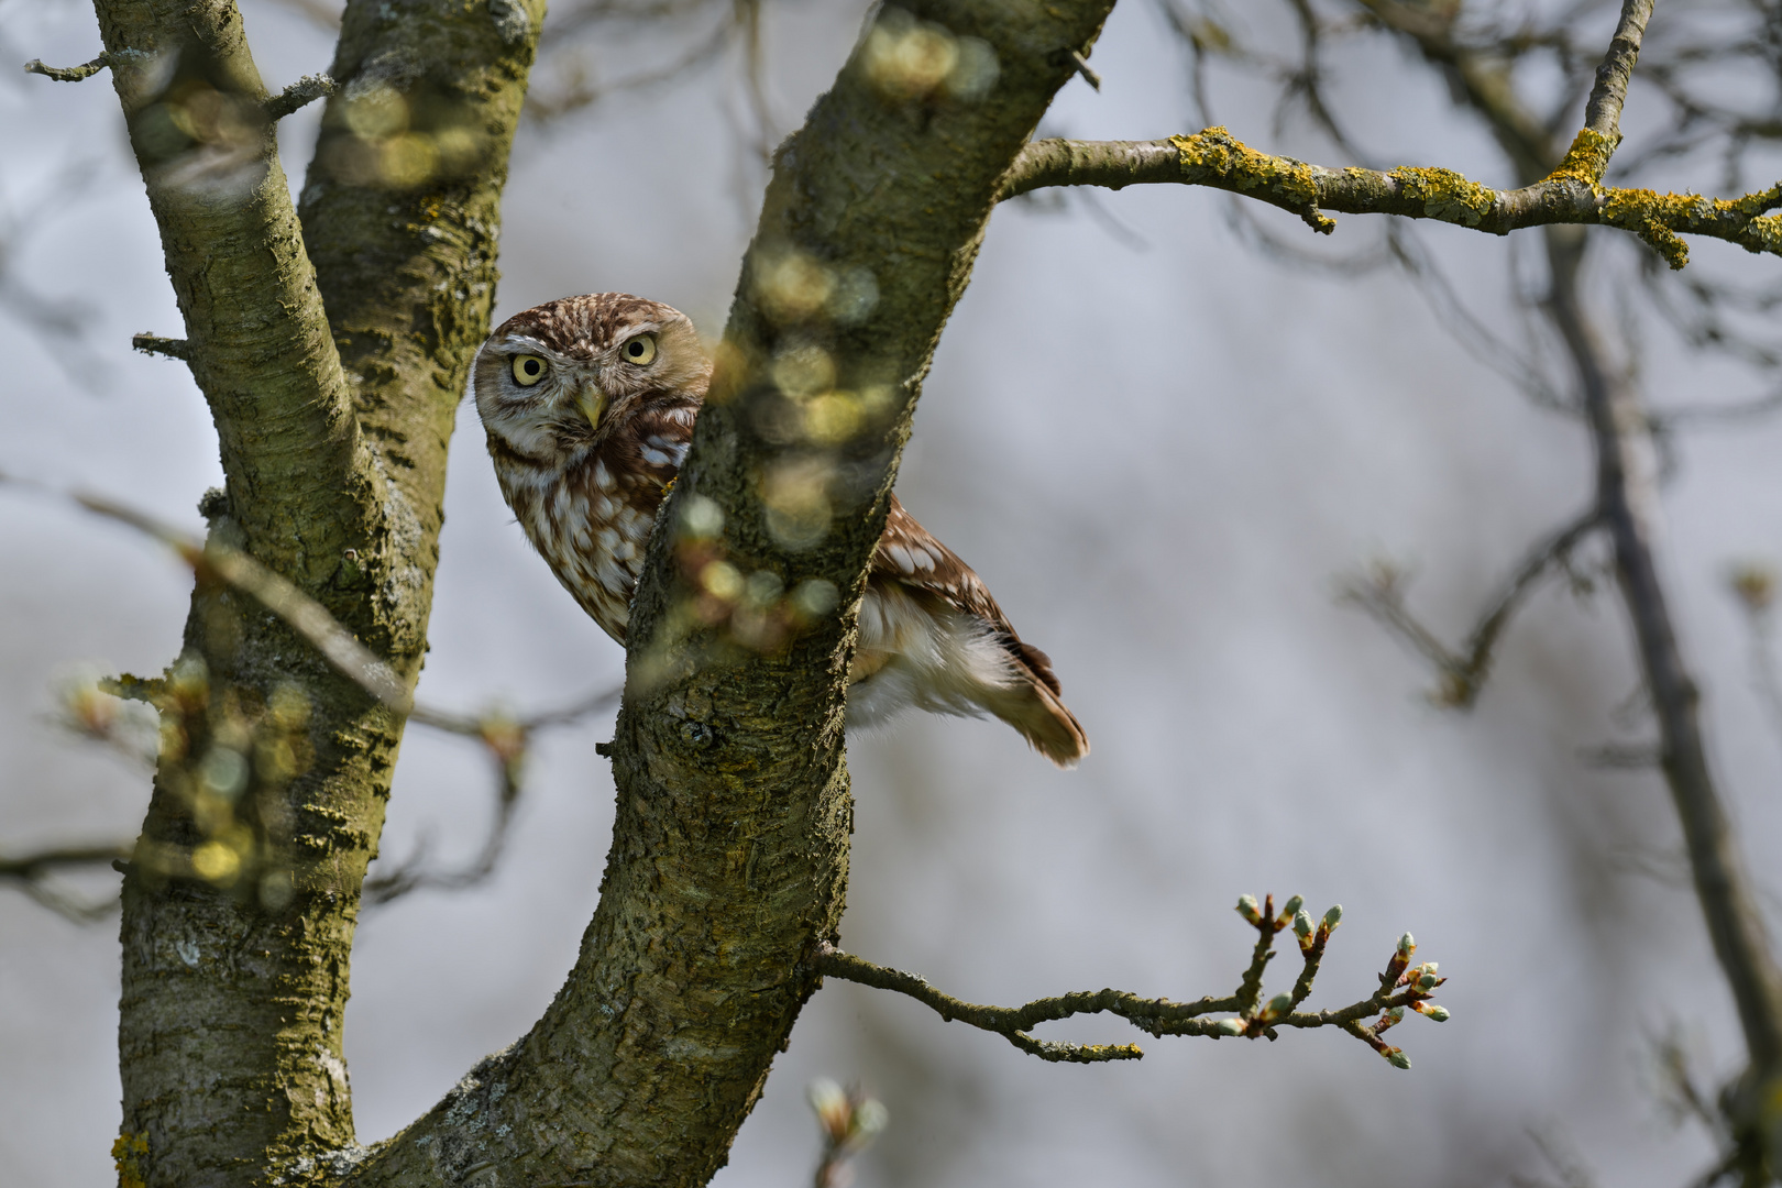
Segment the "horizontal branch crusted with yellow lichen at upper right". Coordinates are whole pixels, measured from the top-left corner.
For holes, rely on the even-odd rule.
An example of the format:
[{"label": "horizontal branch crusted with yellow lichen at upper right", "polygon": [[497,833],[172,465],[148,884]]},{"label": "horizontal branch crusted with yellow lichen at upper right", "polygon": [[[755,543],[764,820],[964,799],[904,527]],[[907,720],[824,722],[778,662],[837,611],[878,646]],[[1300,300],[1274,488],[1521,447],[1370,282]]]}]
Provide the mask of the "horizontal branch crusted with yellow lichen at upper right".
[{"label": "horizontal branch crusted with yellow lichen at upper right", "polygon": [[[1588,135],[1595,134],[1586,128],[1577,144]],[[1618,226],[1639,235],[1673,269],[1689,260],[1679,233],[1723,239],[1746,251],[1782,256],[1782,214],[1771,214],[1782,207],[1782,183],[1730,199],[1593,185],[1584,175],[1597,167],[1597,157],[1577,144],[1566,157],[1570,164],[1545,180],[1493,191],[1452,169],[1328,169],[1292,157],[1271,157],[1226,128],[1167,141],[1053,139],[1034,141],[1021,150],[998,196],[1007,199],[1042,185],[1206,185],[1297,214],[1324,235],[1336,228],[1336,221],[1324,212],[1335,210],[1433,219],[1492,235],[1556,224]]]}]

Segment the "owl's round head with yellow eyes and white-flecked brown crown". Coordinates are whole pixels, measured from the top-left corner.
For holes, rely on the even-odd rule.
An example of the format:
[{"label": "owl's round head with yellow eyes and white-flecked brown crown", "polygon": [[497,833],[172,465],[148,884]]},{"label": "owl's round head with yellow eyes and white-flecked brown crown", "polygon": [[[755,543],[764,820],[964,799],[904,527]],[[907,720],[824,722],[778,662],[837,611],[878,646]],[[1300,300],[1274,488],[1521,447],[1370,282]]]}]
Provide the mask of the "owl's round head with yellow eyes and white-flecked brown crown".
[{"label": "owl's round head with yellow eyes and white-flecked brown crown", "polygon": [[472,376],[492,442],[552,463],[597,445],[652,397],[702,397],[711,360],[681,310],[593,292],[504,321],[476,353]]}]

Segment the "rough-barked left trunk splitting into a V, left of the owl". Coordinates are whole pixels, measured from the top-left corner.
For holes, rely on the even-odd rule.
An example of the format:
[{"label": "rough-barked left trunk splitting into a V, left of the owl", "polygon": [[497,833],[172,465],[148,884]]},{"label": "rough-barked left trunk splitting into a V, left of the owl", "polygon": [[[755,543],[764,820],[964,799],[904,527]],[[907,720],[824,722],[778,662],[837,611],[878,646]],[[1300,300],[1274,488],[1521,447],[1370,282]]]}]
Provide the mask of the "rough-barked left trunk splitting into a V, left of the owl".
[{"label": "rough-barked left trunk splitting into a V, left of the owl", "polygon": [[[446,443],[486,333],[495,205],[544,4],[349,5],[335,64],[346,93],[380,69],[394,89],[456,87],[483,151],[449,180],[410,187],[312,176],[308,237],[233,4],[96,7],[221,443],[228,486],[205,502],[212,533],[321,600],[412,686]],[[392,46],[410,57],[392,61]],[[426,69],[405,73],[417,55]],[[192,94],[176,112],[185,123],[169,125]],[[217,105],[230,121],[221,139],[169,134]],[[205,582],[168,689],[123,896],[121,1183],[314,1177],[312,1156],[353,1145],[347,960],[401,721],[280,622]],[[285,720],[305,762],[274,778],[258,732],[292,689],[301,712]],[[235,737],[237,727],[255,734]],[[249,764],[230,819],[257,842],[237,878],[200,878],[192,857],[216,841],[205,805],[217,798],[192,789],[225,750]]]}]

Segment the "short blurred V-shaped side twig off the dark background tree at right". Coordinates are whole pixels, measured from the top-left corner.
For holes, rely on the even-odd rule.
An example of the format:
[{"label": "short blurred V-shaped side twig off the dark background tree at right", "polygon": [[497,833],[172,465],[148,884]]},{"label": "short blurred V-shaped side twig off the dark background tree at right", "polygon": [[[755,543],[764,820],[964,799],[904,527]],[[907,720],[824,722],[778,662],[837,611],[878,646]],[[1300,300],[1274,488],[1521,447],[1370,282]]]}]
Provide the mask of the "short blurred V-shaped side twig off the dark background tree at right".
[{"label": "short blurred V-shaped side twig off the dark background tree at right", "polygon": [[1433,702],[1452,709],[1470,709],[1479,700],[1479,691],[1497,659],[1497,641],[1516,609],[1534,591],[1541,577],[1554,566],[1568,565],[1572,552],[1600,525],[1602,515],[1591,508],[1531,549],[1504,588],[1492,598],[1479,623],[1468,632],[1463,652],[1449,648],[1410,613],[1404,606],[1404,574],[1394,566],[1379,565],[1365,579],[1349,581],[1340,597],[1372,614],[1436,666],[1442,673],[1442,684],[1431,693]]}]

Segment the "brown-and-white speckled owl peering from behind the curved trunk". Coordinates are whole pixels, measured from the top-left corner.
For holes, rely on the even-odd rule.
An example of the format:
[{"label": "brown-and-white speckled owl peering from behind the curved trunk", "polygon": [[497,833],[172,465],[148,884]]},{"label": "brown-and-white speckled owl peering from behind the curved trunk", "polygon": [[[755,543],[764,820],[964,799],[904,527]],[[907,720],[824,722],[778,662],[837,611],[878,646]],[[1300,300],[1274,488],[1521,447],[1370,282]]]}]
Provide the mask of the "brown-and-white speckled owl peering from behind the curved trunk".
[{"label": "brown-and-white speckled owl peering from behind the curved trunk", "polygon": [[[684,313],[617,292],[517,313],[478,351],[476,411],[501,493],[563,588],[620,643],[709,381]],[[909,707],[994,714],[1060,768],[1089,753],[1046,654],[893,495],[861,604],[848,725]]]}]

